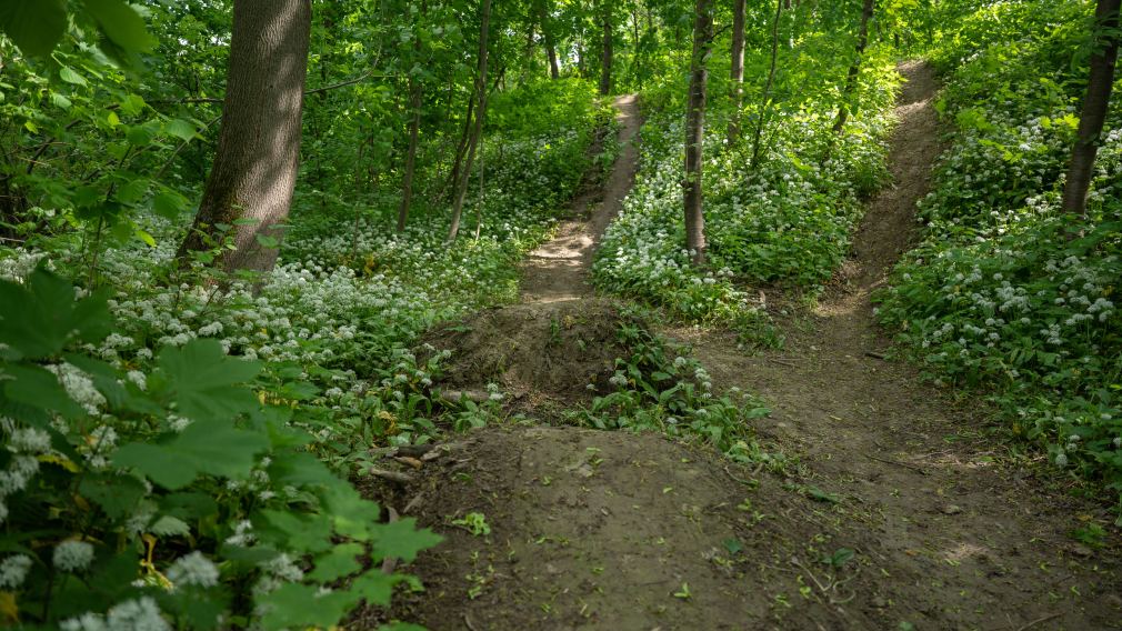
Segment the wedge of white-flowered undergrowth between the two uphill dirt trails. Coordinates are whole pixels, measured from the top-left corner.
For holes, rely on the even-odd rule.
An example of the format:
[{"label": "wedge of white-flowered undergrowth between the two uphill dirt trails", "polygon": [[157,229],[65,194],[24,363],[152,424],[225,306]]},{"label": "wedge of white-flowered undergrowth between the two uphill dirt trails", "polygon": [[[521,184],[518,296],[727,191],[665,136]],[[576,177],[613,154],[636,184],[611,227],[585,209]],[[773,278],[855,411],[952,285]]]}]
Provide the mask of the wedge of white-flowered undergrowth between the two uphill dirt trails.
[{"label": "wedge of white-flowered undergrowth between the two uphill dirt trails", "polygon": [[[773,98],[782,100],[763,112],[748,101],[745,131],[732,145],[725,138],[727,99],[711,88],[703,179],[708,262],[701,267],[690,264],[681,245],[684,104],[669,86],[652,89],[637,181],[604,237],[595,284],[686,321],[728,326],[747,341],[779,344],[753,287],[820,291],[848,254],[864,199],[886,176],[884,139],[899,77],[882,55],[866,64],[863,104],[840,135],[830,129],[837,94],[802,88],[829,83],[833,73],[844,76],[840,63],[781,73]],[[758,116],[766,122],[753,164]]]}]

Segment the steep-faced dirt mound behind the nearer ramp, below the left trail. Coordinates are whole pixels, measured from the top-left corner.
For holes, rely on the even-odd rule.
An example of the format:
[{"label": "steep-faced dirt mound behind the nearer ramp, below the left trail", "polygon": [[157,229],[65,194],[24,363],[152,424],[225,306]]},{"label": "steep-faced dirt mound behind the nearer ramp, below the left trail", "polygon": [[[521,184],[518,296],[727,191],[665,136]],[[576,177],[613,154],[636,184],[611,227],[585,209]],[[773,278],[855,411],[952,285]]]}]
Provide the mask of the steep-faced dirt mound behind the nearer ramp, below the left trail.
[{"label": "steep-faced dirt mound behind the nearer ramp, below the left trail", "polygon": [[607,301],[515,304],[438,327],[422,342],[452,353],[438,384],[444,392],[495,383],[508,399],[574,403],[611,390],[616,358],[631,354],[624,326],[642,323]]}]

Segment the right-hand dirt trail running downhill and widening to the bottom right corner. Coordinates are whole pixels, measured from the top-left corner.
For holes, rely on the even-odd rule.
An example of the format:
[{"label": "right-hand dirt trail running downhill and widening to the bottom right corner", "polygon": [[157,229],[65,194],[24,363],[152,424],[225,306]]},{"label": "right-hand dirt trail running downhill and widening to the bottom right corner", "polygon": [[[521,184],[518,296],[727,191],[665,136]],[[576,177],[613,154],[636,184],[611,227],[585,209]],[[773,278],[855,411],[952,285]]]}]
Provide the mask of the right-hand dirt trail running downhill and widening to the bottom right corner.
[{"label": "right-hand dirt trail running downhill and widening to the bottom right corner", "polygon": [[853,503],[838,531],[875,533],[863,552],[891,576],[849,606],[863,600],[919,629],[1122,628],[1119,550],[1068,537],[1107,515],[1028,479],[984,436],[983,406],[955,404],[920,385],[913,368],[867,355],[889,344],[870,292],[909,244],[939,152],[931,70],[901,71],[908,83],[890,154],[896,185],[871,203],[845,286],[788,327],[782,351],[746,357],[721,335],[682,337],[718,381],[769,402],[763,437]]}]

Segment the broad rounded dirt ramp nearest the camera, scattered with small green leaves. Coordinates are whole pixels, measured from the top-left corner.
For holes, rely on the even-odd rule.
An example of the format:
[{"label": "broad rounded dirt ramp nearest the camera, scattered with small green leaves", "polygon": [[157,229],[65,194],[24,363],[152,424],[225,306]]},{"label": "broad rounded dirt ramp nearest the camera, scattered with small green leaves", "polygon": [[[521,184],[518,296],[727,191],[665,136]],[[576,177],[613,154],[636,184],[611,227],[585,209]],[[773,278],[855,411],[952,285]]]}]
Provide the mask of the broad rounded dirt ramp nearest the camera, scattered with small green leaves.
[{"label": "broad rounded dirt ramp nearest the camera, scattered with small green leaves", "polygon": [[818,587],[792,557],[825,586],[829,568],[808,545],[836,545],[813,502],[771,477],[734,481],[751,472],[708,451],[517,427],[470,433],[441,461],[405,494],[447,540],[406,568],[426,592],[397,605],[402,620],[471,631],[877,628],[859,611],[831,612],[830,594],[800,596]]}]

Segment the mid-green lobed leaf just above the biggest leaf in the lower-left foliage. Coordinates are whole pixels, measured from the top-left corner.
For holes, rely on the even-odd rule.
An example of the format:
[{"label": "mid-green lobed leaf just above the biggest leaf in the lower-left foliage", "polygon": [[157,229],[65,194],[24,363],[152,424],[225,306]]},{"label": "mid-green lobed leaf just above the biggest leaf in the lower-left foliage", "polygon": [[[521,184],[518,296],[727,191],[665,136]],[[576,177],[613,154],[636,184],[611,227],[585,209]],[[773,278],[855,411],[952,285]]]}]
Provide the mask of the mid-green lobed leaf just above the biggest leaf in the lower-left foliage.
[{"label": "mid-green lobed leaf just above the biggest leaf in the lower-left foliage", "polygon": [[260,364],[228,357],[218,340],[197,339],[183,348],[165,347],[158,365],[177,412],[184,417],[232,419],[257,406],[254,393],[238,384],[254,378]]}]

